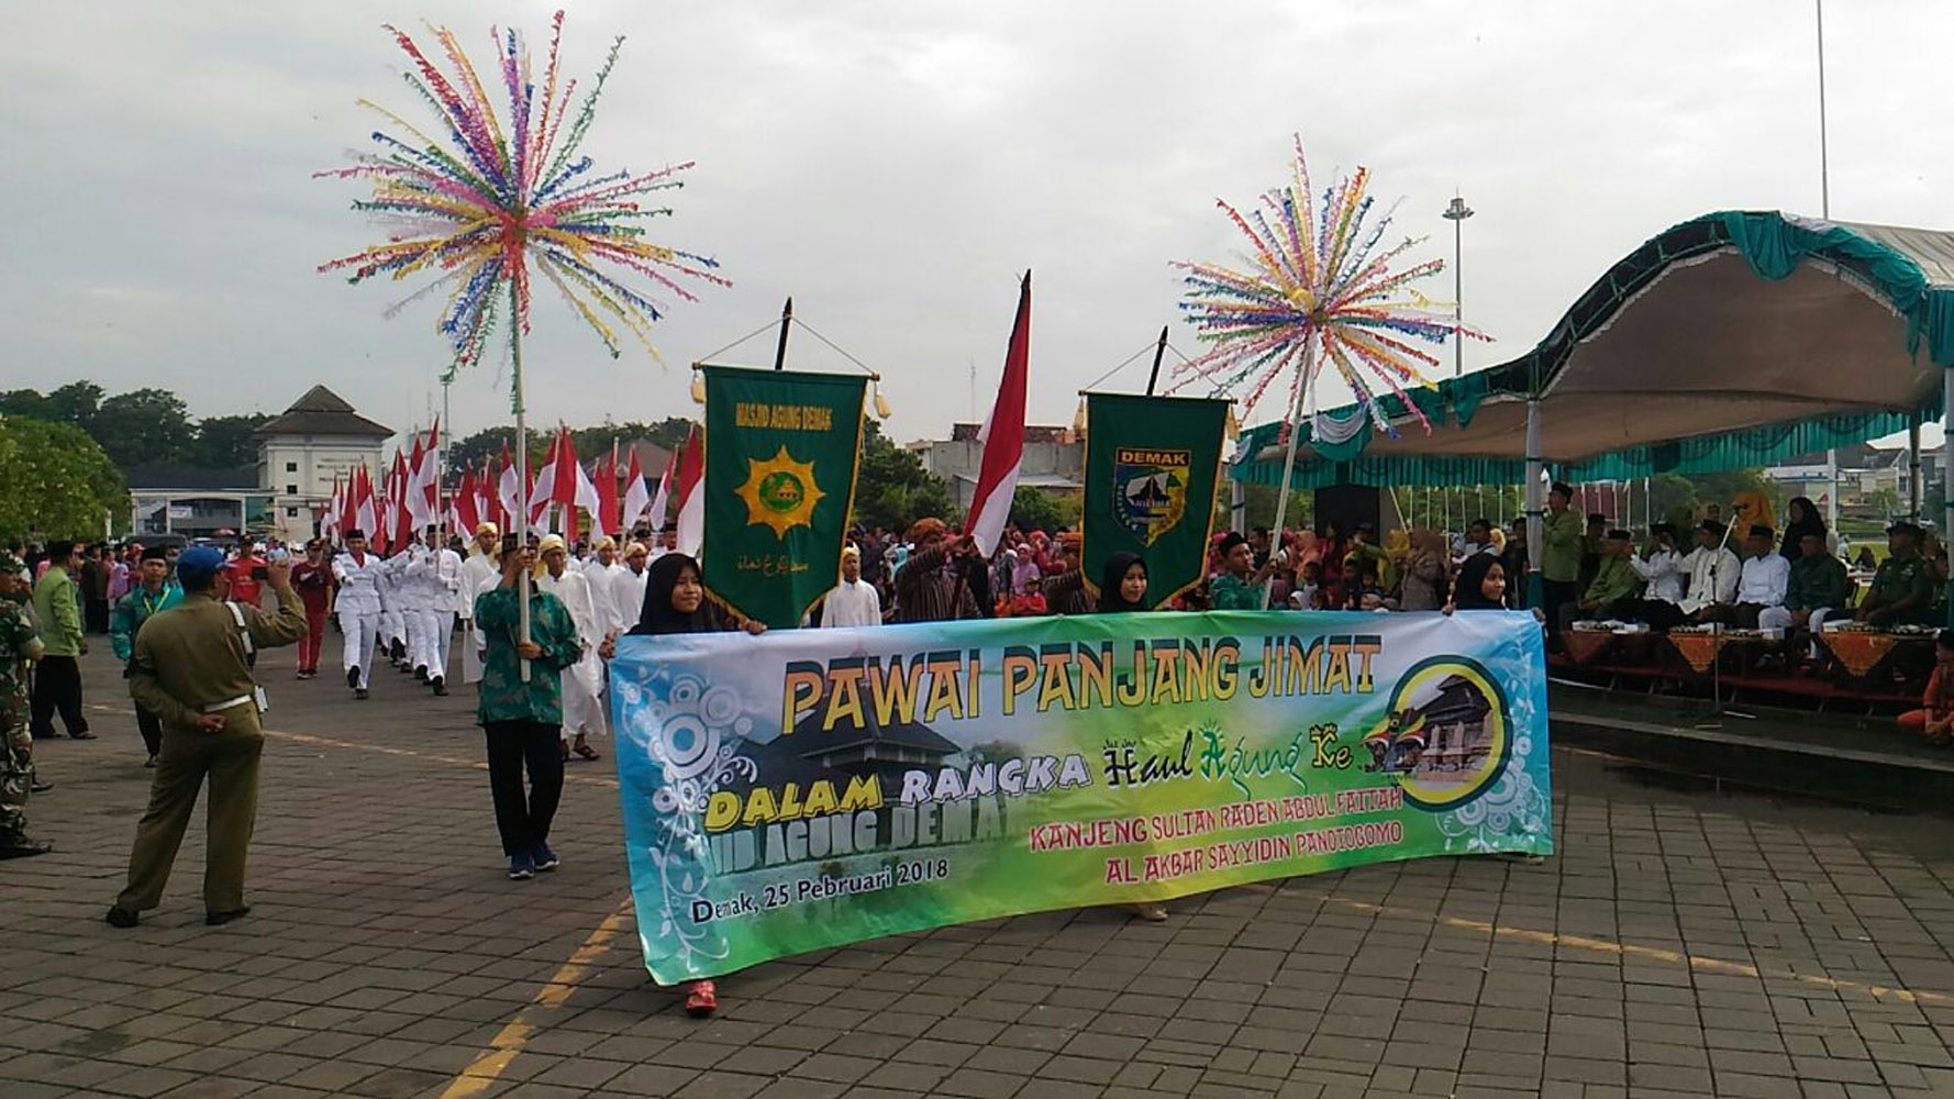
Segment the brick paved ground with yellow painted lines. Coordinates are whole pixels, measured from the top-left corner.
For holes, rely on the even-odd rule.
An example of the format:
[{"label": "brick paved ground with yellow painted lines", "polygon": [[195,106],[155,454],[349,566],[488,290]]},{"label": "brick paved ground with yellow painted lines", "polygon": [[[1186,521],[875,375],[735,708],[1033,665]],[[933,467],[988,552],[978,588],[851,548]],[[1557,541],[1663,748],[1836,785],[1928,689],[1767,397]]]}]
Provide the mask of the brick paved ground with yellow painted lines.
[{"label": "brick paved ground with yellow painted lines", "polygon": [[164,907],[113,931],[149,772],[88,659],[102,739],[37,747],[59,851],[0,862],[0,1095],[1954,1095],[1946,819],[1563,751],[1544,866],[864,943],[723,980],[696,1023],[639,964],[608,761],[573,767],[563,870],[512,884],[465,692],[354,704],[289,669],[268,655],[256,911],[203,927],[193,827]]}]

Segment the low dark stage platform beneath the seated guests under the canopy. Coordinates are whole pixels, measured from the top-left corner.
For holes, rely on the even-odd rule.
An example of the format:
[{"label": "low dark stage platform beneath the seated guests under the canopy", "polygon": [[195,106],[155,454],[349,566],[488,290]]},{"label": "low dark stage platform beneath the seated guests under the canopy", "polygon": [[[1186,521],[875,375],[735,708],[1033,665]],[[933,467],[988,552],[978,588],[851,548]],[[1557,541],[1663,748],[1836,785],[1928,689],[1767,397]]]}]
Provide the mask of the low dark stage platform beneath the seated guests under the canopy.
[{"label": "low dark stage platform beneath the seated guests under the canopy", "polygon": [[1557,745],[1716,784],[1954,813],[1954,749],[1901,735],[1890,714],[1817,714],[1751,702],[1608,690],[1553,677]]}]

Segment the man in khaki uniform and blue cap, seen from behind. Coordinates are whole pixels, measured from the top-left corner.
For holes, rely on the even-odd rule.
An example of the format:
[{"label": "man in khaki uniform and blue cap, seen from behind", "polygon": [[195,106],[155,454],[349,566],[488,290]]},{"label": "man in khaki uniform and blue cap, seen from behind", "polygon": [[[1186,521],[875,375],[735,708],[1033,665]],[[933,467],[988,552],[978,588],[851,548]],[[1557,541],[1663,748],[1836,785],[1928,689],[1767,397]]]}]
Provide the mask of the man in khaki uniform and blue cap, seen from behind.
[{"label": "man in khaki uniform and blue cap, seen from behind", "polygon": [[264,751],[262,694],[250,661],[256,649],[289,645],[305,634],[305,604],[291,589],[291,561],[266,569],[277,593],[277,614],[225,602],[223,563],[217,550],[184,551],[176,559],[182,606],[150,618],[135,639],[129,694],[162,720],[162,753],[149,812],[129,853],[129,886],[106,917],[115,927],[135,927],[137,915],[162,900],[205,774],[211,780],[205,923],[229,923],[250,911],[244,853],[258,819],[258,757]]}]

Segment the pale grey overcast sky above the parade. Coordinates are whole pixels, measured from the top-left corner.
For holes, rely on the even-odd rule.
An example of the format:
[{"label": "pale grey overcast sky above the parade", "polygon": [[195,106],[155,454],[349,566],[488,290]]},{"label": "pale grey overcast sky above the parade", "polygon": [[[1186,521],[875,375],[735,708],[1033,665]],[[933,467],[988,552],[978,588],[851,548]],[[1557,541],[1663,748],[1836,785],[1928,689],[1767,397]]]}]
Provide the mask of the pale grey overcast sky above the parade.
[{"label": "pale grey overcast sky above the parade", "polygon": [[[193,415],[276,413],[324,381],[397,428],[440,405],[434,309],[315,274],[381,233],[354,184],[373,98],[416,117],[379,29],[426,18],[477,63],[490,25],[541,51],[557,4],[16,4],[0,65],[14,203],[0,239],[0,387],[162,385]],[[1954,229],[1934,104],[1946,0],[1825,10],[1833,215]],[[418,31],[418,25],[414,25]],[[698,160],[664,242],[735,286],[674,303],[664,366],[612,362],[539,287],[533,420],[696,415],[686,366],[797,315],[883,374],[897,438],[942,436],[997,385],[1016,274],[1036,270],[1032,418],[1178,321],[1168,260],[1229,260],[1215,198],[1251,203],[1301,133],[1319,182],[1368,164],[1397,229],[1450,256],[1466,317],[1526,352],[1610,262],[1712,209],[1819,213],[1813,12],[1798,0],[569,4],[565,65],[627,37],[586,151]],[[1426,289],[1450,297],[1450,272]],[[754,340],[721,362],[764,366]],[[789,366],[844,362],[803,334]],[[1139,389],[1137,364],[1108,385]],[[508,411],[485,364],[453,428]],[[1274,415],[1264,405],[1256,418]]]}]

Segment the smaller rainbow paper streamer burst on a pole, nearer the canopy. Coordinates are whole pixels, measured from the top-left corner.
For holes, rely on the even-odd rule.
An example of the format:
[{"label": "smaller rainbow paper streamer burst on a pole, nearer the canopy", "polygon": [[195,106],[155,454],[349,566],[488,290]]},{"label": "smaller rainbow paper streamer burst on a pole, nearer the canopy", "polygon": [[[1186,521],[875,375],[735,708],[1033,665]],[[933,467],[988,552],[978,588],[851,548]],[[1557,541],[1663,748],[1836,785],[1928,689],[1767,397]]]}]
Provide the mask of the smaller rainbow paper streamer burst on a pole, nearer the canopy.
[{"label": "smaller rainbow paper streamer burst on a pole, nearer the canopy", "polygon": [[1391,270],[1424,241],[1405,239],[1380,248],[1393,211],[1374,217],[1368,184],[1370,170],[1360,166],[1354,176],[1325,188],[1317,207],[1297,137],[1290,186],[1264,194],[1260,209],[1245,217],[1227,201],[1215,201],[1249,239],[1253,254],[1243,258],[1251,270],[1174,262],[1188,272],[1180,309],[1200,340],[1213,344],[1174,368],[1184,375],[1176,389],[1196,379],[1221,391],[1247,383],[1247,411],[1288,372],[1294,413],[1284,418],[1286,434],[1323,364],[1335,364],[1381,430],[1397,434],[1380,403],[1381,393],[1405,399],[1430,430],[1405,387],[1430,387],[1419,364],[1438,366],[1438,358],[1407,338],[1444,344],[1454,334],[1487,336],[1458,325],[1438,309],[1442,303],[1413,289],[1411,284],[1442,272],[1444,260]]}]

